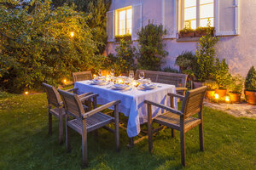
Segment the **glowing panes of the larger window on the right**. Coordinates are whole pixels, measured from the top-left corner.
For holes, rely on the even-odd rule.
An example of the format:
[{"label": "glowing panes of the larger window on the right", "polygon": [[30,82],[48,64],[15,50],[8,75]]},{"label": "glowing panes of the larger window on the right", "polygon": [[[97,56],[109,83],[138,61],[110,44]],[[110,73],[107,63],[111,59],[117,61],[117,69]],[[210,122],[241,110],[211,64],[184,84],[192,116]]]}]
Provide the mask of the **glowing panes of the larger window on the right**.
[{"label": "glowing panes of the larger window on the right", "polygon": [[214,26],[214,0],[183,0],[183,27]]}]

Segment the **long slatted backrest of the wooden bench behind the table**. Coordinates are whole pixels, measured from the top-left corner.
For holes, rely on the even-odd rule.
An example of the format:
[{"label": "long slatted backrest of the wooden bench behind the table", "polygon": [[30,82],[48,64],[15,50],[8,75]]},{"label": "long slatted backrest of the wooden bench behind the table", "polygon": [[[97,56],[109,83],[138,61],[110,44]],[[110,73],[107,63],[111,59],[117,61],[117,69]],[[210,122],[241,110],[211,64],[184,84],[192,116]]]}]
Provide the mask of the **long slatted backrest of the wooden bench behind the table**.
[{"label": "long slatted backrest of the wooden bench behind the table", "polygon": [[163,71],[145,71],[137,70],[135,79],[138,79],[139,72],[144,71],[145,78],[150,78],[152,82],[160,82],[175,85],[177,88],[185,88],[187,75],[181,73],[163,72]]}]

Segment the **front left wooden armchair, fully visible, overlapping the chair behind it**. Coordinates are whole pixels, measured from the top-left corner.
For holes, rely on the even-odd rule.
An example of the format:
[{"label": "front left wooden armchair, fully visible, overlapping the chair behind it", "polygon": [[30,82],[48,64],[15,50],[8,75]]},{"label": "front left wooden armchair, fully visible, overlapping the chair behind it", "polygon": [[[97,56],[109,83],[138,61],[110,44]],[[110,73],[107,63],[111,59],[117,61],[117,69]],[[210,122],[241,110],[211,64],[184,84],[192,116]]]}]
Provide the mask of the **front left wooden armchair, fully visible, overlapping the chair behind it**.
[{"label": "front left wooden armchair, fully visible, overlapping the chair behind it", "polygon": [[[66,116],[66,142],[67,150],[70,150],[70,129],[73,128],[77,133],[82,135],[82,152],[83,152],[83,167],[87,167],[87,133],[95,131],[100,127],[105,127],[110,132],[114,133],[115,147],[119,150],[119,103],[120,101],[109,102],[96,108],[97,94],[90,94],[84,98],[79,98],[77,94],[70,94],[58,89],[61,98],[64,101]],[[93,110],[84,111],[82,102],[86,99],[93,98]],[[114,106],[114,117],[103,114],[103,111],[110,106]],[[74,119],[69,119],[72,116]],[[114,130],[106,125],[114,122]]]}]

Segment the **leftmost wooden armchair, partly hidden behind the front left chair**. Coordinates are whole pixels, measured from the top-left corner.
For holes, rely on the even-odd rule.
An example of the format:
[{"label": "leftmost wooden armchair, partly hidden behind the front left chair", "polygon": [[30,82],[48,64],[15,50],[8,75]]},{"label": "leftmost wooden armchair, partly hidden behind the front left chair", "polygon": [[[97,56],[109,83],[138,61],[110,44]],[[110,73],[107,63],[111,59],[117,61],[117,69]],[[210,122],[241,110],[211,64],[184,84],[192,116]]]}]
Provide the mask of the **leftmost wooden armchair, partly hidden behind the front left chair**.
[{"label": "leftmost wooden armchair, partly hidden behind the front left chair", "polygon": [[[59,142],[63,143],[63,117],[65,116],[65,111],[63,108],[63,102],[61,101],[60,95],[55,89],[55,87],[50,86],[49,84],[42,83],[47,94],[48,99],[48,133],[52,134],[52,115],[55,116],[59,120]],[[77,93],[78,88],[68,89],[67,92]],[[92,93],[82,94],[79,97],[84,97],[84,95],[89,95]],[[86,105],[83,105],[84,109],[89,109]]]}]

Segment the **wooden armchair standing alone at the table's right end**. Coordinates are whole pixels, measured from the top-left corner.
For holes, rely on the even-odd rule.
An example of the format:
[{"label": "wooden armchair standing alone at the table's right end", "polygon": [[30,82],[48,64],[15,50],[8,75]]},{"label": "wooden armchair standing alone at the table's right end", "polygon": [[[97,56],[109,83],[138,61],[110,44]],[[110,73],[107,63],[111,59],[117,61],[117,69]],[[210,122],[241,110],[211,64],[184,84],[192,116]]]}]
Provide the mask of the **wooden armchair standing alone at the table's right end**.
[{"label": "wooden armchair standing alone at the table's right end", "polygon": [[[191,128],[199,125],[199,139],[200,139],[200,150],[204,150],[203,140],[203,115],[202,105],[203,99],[207,90],[207,86],[196,88],[186,92],[185,96],[178,94],[168,94],[170,98],[177,97],[183,99],[183,105],[181,111],[177,111],[172,107],[154,103],[152,101],[145,100],[148,108],[148,150],[152,152],[152,124],[153,122],[159,123],[166,127],[172,128],[172,137],[174,136],[173,129],[180,131],[180,144],[181,144],[181,161],[183,166],[186,165],[186,152],[185,152],[185,133]],[[172,99],[173,100],[173,99]],[[166,110],[166,112],[160,116],[152,118],[151,106],[160,107]],[[193,115],[198,113],[198,118]]]}]

